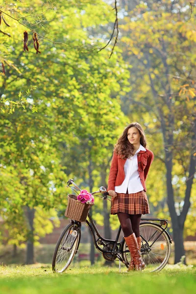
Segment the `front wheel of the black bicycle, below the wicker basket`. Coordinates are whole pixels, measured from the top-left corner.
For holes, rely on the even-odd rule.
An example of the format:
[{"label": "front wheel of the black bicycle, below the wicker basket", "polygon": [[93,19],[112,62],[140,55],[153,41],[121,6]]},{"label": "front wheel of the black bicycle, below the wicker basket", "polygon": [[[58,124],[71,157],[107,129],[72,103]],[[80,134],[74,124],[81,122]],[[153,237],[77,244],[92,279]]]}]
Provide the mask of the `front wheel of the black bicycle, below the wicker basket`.
[{"label": "front wheel of the black bicycle, below the wicker basket", "polygon": [[67,270],[77,252],[81,237],[81,222],[69,224],[61,233],[52,257],[52,270]]}]

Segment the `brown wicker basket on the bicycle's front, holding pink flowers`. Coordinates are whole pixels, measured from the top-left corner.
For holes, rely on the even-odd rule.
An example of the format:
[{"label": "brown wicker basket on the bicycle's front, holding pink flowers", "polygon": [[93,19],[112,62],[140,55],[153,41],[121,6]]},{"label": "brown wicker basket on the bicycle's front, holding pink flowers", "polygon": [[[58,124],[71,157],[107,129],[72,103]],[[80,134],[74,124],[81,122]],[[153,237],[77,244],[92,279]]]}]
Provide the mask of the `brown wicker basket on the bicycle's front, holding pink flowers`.
[{"label": "brown wicker basket on the bicycle's front, holding pink flowers", "polygon": [[68,195],[68,205],[65,211],[65,216],[75,221],[86,221],[89,209],[93,204],[81,203],[76,201],[77,196]]}]

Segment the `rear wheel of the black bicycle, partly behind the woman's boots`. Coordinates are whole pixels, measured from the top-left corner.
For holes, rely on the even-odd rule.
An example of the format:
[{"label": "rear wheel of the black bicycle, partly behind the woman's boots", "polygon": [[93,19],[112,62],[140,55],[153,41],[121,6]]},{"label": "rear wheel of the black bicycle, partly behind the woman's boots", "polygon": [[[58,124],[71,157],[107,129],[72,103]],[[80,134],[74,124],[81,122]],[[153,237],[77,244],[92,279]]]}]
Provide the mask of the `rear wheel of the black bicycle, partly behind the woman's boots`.
[{"label": "rear wheel of the black bicycle, partly behind the woman's boots", "polygon": [[[166,266],[171,253],[167,233],[157,224],[144,222],[140,224],[140,236],[142,237],[141,257],[146,264],[145,271],[162,270]],[[124,240],[122,248],[122,251],[128,250]],[[123,252],[123,260],[130,262],[129,252]]]}]

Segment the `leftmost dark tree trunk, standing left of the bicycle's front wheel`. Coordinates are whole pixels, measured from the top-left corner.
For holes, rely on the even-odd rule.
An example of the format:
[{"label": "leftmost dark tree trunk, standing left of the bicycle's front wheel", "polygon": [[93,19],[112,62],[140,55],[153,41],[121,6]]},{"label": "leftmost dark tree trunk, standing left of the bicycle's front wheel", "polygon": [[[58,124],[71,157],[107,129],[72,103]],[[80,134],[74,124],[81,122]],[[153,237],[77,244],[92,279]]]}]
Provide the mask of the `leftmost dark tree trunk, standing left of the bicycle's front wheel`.
[{"label": "leftmost dark tree trunk, standing left of the bicycle's front wheel", "polygon": [[26,250],[26,264],[34,264],[34,238],[33,238],[33,221],[35,216],[35,209],[30,209],[27,206],[27,219],[29,223],[29,234],[28,234],[28,240],[27,240],[27,250]]}]

